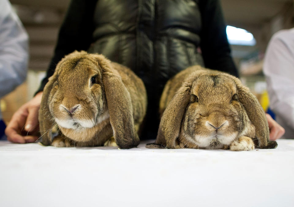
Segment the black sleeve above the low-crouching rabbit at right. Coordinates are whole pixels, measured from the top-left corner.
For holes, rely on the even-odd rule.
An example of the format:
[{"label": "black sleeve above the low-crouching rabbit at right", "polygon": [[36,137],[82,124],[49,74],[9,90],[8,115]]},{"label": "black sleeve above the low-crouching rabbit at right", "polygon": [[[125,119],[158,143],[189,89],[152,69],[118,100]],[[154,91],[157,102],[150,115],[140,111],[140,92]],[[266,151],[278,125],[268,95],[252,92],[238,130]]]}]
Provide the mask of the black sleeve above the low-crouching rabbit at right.
[{"label": "black sleeve above the low-crouching rabbit at right", "polygon": [[201,51],[205,67],[239,77],[228,44],[226,24],[219,0],[200,0]]}]

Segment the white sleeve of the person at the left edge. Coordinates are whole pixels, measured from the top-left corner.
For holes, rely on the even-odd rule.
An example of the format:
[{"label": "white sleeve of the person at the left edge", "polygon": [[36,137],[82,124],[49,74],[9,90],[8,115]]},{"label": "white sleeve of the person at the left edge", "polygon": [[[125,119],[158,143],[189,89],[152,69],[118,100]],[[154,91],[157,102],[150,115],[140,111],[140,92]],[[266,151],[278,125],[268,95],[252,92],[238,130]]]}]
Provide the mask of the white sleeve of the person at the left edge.
[{"label": "white sleeve of the person at the left edge", "polygon": [[26,78],[28,34],[8,0],[0,1],[0,98]]}]

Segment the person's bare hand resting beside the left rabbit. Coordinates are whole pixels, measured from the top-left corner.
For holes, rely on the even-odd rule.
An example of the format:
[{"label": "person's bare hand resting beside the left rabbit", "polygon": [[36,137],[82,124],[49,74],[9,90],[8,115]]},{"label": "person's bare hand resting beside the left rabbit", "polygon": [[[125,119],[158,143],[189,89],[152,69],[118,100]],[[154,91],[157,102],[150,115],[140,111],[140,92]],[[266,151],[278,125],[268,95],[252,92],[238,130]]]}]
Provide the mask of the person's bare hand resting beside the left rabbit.
[{"label": "person's bare hand resting beside the left rabbit", "polygon": [[36,141],[39,134],[39,108],[43,92],[22,105],[12,116],[5,129],[7,139],[15,143],[28,143]]}]

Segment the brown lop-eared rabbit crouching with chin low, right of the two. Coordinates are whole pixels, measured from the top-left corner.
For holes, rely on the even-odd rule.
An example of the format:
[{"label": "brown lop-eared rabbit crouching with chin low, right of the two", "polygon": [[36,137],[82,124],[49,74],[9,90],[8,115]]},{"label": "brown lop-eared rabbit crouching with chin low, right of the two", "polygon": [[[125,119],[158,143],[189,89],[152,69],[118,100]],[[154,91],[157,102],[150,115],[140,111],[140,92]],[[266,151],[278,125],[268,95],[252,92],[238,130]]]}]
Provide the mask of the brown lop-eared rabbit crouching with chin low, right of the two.
[{"label": "brown lop-eared rabbit crouching with chin low, right of the two", "polygon": [[269,141],[265,112],[241,81],[227,73],[192,66],[172,77],[160,99],[157,138],[147,148],[253,150]]}]

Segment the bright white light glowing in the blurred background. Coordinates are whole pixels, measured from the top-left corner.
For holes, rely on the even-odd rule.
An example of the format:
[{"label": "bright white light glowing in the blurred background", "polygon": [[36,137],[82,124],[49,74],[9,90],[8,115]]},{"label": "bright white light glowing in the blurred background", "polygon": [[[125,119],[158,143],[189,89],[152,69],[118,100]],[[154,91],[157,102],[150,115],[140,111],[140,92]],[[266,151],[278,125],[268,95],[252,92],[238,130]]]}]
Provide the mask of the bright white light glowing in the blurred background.
[{"label": "bright white light glowing in the blurred background", "polygon": [[245,29],[227,26],[227,37],[230,44],[254,46],[256,41],[253,35]]}]

